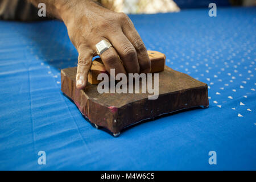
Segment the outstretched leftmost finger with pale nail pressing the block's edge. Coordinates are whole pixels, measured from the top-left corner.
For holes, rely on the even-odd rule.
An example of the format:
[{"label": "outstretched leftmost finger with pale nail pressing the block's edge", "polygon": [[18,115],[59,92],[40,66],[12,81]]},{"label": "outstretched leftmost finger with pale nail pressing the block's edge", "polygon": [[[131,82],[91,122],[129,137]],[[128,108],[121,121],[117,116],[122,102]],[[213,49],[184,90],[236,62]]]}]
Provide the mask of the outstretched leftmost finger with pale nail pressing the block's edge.
[{"label": "outstretched leftmost finger with pale nail pressing the block's edge", "polygon": [[76,88],[84,89],[87,83],[90,66],[92,65],[93,51],[88,47],[80,46],[78,52]]}]

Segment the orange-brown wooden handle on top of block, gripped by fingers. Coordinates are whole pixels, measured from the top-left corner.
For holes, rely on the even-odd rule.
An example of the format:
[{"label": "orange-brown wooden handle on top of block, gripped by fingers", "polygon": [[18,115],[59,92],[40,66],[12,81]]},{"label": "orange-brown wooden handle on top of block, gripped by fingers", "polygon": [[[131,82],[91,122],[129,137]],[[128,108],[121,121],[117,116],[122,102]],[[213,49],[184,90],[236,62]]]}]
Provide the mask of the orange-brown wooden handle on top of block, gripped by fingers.
[{"label": "orange-brown wooden handle on top of block, gripped by fingers", "polygon": [[[166,55],[158,51],[147,51],[148,57],[151,61],[151,72],[162,72],[164,71],[164,65],[166,63]],[[92,66],[90,67],[90,71],[88,74],[88,82],[90,84],[98,84],[101,80],[97,80],[97,77],[100,73],[108,73],[102,60],[100,58],[96,58],[92,62]]]}]

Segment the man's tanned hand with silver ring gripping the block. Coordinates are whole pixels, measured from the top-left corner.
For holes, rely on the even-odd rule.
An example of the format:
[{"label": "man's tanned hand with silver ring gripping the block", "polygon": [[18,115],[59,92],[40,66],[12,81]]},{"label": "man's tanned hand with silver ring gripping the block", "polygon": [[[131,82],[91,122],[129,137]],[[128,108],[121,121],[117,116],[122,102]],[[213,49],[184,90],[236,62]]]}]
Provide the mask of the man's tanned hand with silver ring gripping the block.
[{"label": "man's tanned hand with silver ring gripping the block", "polygon": [[60,10],[69,38],[79,52],[78,89],[85,88],[92,58],[97,55],[95,45],[101,40],[113,46],[100,55],[108,72],[112,68],[115,74],[150,72],[146,47],[126,14],[115,13],[92,1],[76,1]]}]

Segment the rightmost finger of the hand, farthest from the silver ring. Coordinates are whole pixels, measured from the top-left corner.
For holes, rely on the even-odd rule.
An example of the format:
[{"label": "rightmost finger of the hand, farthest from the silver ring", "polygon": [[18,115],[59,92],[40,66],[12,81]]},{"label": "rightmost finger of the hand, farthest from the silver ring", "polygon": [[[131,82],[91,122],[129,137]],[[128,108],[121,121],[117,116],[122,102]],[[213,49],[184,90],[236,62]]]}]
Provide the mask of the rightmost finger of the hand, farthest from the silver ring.
[{"label": "rightmost finger of the hand, farthest from the silver ring", "polygon": [[130,40],[131,44],[133,44],[137,56],[138,56],[138,62],[140,67],[141,73],[150,73],[151,70],[151,62],[148,57],[147,49],[141,39],[141,36],[139,36],[137,30],[134,27],[133,22],[129,19],[129,17],[126,15],[123,15],[123,26],[122,31],[123,34],[127,37],[127,39]]}]

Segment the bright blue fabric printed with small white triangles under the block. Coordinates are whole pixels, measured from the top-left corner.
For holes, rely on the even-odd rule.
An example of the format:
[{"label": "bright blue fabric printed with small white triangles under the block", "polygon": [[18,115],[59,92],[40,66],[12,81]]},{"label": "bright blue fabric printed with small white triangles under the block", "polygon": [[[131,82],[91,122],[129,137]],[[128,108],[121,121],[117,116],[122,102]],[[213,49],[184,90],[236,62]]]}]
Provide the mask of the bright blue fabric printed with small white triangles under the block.
[{"label": "bright blue fabric printed with small white triangles under the block", "polygon": [[62,22],[0,22],[0,169],[256,169],[255,10],[131,15],[148,49],[209,85],[210,106],[118,138],[94,129],[61,93],[60,69],[77,64]]}]

